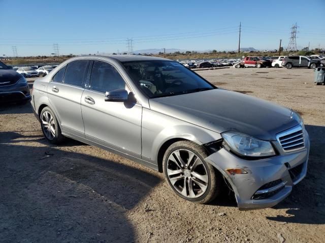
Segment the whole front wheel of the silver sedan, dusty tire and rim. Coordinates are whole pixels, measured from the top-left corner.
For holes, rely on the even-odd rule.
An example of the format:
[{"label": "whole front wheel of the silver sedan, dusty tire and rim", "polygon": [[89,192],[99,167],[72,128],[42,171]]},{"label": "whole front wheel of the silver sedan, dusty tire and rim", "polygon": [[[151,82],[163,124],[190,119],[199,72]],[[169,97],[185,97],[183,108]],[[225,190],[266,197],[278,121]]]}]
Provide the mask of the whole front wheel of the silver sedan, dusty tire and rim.
[{"label": "whole front wheel of the silver sedan, dusty tire and rim", "polygon": [[[191,141],[176,142],[166,150],[163,158],[164,174],[178,196],[194,203],[207,204],[220,194],[221,178],[213,166],[204,161],[207,156],[203,146]],[[181,157],[184,163],[177,157]]]}]

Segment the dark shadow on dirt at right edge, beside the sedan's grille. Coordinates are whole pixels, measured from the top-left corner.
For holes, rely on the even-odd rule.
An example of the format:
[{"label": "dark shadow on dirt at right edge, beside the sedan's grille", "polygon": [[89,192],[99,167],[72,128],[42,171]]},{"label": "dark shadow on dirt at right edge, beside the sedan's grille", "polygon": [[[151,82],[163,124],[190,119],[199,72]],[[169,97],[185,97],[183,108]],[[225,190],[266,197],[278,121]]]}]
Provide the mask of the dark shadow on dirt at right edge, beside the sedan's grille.
[{"label": "dark shadow on dirt at right edge, beside the sedan's grille", "polygon": [[310,136],[308,171],[304,180],[274,209],[287,209],[287,215],[267,219],[301,224],[325,224],[325,127],[306,125]]}]

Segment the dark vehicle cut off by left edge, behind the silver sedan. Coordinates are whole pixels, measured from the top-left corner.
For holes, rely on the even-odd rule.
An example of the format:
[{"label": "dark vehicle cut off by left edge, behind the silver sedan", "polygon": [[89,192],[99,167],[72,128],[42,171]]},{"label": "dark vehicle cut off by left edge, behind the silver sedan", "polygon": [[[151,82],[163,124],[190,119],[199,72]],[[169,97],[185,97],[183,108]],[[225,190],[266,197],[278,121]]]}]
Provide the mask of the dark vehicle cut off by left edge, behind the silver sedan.
[{"label": "dark vehicle cut off by left edge, behind the silver sedan", "polygon": [[0,62],[0,103],[24,104],[30,100],[27,80],[18,72]]}]

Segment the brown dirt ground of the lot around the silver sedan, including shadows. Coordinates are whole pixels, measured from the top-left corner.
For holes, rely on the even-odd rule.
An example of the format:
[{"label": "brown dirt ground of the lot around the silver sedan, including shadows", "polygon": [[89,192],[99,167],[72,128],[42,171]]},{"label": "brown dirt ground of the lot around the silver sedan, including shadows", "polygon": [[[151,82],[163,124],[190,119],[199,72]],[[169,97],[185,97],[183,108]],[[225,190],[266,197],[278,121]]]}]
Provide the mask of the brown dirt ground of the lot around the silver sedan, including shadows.
[{"label": "brown dirt ground of the lot around the silver sedan, including shadows", "polygon": [[313,85],[310,69],[199,73],[302,114],[308,174],[289,197],[255,211],[239,211],[226,193],[210,205],[189,203],[131,160],[73,140],[47,143],[29,104],[2,105],[0,242],[324,242],[325,86]]}]

